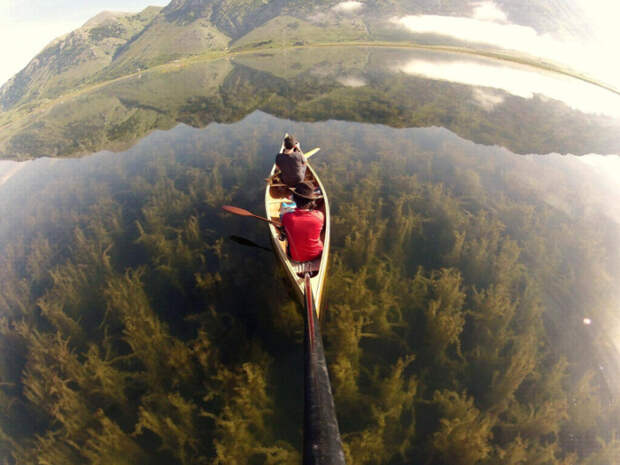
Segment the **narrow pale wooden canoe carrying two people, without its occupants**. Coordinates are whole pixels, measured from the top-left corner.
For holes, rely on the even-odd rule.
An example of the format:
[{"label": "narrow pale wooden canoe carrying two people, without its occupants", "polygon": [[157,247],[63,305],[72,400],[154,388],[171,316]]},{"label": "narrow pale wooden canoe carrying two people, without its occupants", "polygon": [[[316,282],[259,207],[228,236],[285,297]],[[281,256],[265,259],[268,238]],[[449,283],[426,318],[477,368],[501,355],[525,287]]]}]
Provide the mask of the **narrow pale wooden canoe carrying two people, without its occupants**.
[{"label": "narrow pale wooden canoe carrying two people, without its occupants", "polygon": [[[276,172],[276,165],[273,165],[271,169],[270,178]],[[295,292],[300,299],[302,305],[304,304],[304,276],[303,270],[308,269],[309,267],[316,268],[318,265],[318,273],[310,278],[310,287],[312,289],[312,294],[314,297],[314,302],[316,306],[317,317],[320,318],[321,314],[321,302],[323,297],[323,290],[325,288],[325,281],[327,278],[327,260],[329,258],[329,238],[330,238],[330,212],[329,212],[329,202],[327,200],[327,193],[325,192],[325,188],[321,183],[321,180],[317,176],[316,172],[308,162],[306,169],[306,180],[311,180],[315,185],[319,187],[321,193],[323,195],[322,199],[317,200],[317,209],[323,212],[325,216],[325,224],[323,225],[323,231],[321,232],[321,239],[323,240],[323,253],[321,254],[320,259],[315,260],[314,266],[310,265],[312,262],[308,264],[300,264],[298,262],[294,262],[291,258],[289,258],[286,253],[287,240],[284,238],[280,240],[280,232],[278,229],[269,224],[269,234],[271,236],[271,242],[273,243],[273,247],[275,249],[275,253],[278,259],[282,262],[284,267],[284,271],[288,276],[289,280],[293,284]],[[282,202],[289,200],[291,195],[291,191],[281,184],[271,185],[268,184],[265,189],[265,210],[267,212],[267,218],[272,221],[280,221],[280,206]]]}]

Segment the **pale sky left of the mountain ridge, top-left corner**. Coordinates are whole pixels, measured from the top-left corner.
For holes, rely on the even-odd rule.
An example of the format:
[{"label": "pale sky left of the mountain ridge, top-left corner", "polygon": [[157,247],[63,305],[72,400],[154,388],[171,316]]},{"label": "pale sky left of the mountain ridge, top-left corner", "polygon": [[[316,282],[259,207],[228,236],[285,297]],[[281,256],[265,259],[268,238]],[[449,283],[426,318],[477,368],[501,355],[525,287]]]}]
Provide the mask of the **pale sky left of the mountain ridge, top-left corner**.
[{"label": "pale sky left of the mountain ridge, top-left corner", "polygon": [[141,11],[169,0],[0,0],[0,86],[45,46],[104,10]]}]

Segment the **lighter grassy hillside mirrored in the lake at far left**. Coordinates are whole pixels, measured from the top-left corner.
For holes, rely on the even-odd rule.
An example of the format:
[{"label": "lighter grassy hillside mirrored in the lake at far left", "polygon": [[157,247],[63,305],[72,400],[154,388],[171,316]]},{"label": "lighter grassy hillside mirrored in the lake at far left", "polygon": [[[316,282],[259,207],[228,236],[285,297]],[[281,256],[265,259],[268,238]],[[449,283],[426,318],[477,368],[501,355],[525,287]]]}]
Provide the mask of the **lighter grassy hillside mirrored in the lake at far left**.
[{"label": "lighter grassy hillside mirrored in the lake at far left", "polygon": [[35,112],[0,134],[0,154],[20,159],[125,150],[154,129],[181,120],[187,102],[208,98],[230,73],[227,60],[149,72]]}]

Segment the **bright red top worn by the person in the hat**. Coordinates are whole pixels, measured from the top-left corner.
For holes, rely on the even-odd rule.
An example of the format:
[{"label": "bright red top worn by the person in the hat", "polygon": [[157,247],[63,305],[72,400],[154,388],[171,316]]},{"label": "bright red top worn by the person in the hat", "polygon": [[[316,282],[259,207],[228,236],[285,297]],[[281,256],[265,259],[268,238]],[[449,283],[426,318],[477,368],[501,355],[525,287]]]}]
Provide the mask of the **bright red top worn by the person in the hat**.
[{"label": "bright red top worn by the person in the hat", "polygon": [[307,262],[321,255],[323,222],[323,213],[317,210],[297,209],[282,217],[293,260]]}]

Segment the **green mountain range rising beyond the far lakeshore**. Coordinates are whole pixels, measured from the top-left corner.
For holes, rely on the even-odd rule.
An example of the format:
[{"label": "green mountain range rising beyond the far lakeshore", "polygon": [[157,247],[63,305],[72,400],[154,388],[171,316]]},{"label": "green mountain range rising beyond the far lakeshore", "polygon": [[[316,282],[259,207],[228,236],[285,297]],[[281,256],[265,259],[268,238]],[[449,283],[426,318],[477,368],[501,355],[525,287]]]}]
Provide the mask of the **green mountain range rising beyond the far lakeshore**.
[{"label": "green mountain range rising beyond the far lakeshore", "polygon": [[[0,108],[39,105],[75,89],[210,52],[386,40],[463,45],[436,35],[414,36],[390,19],[410,14],[469,16],[478,3],[172,0],[164,8],[149,7],[138,14],[106,12],[52,42],[5,83]],[[499,4],[509,21],[540,33],[583,32],[571,2],[536,0],[527,8],[515,0]]]}]

